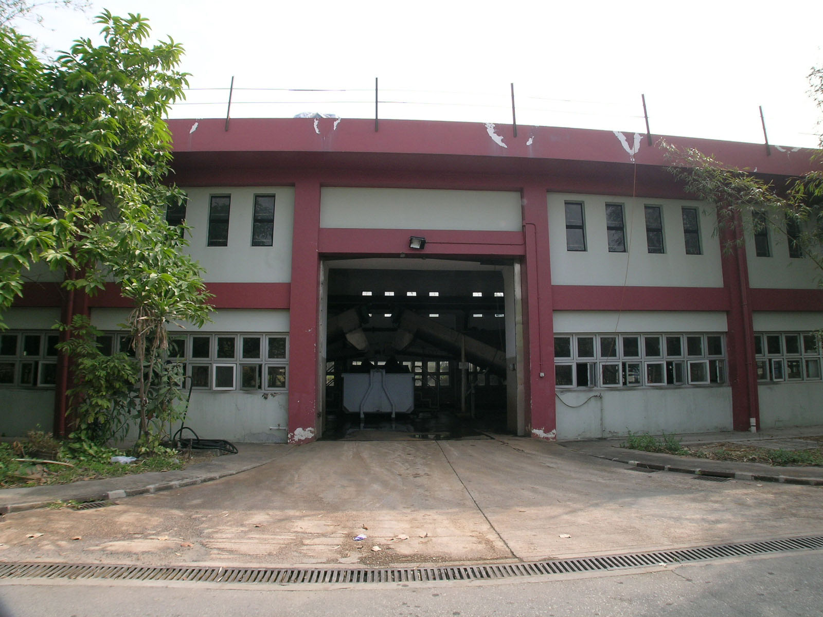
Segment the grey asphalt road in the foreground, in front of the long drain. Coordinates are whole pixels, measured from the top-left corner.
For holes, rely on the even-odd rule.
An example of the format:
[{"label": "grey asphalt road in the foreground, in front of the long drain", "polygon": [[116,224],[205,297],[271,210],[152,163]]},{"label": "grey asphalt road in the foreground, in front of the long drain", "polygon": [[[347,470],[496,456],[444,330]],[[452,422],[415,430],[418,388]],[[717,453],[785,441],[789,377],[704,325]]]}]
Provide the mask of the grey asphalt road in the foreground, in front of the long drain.
[{"label": "grey asphalt road in the foreground, in front of the long drain", "polygon": [[[509,584],[215,588],[146,583],[0,582],[0,617],[752,617],[823,615],[823,551]],[[522,581],[522,579],[520,579]]]}]

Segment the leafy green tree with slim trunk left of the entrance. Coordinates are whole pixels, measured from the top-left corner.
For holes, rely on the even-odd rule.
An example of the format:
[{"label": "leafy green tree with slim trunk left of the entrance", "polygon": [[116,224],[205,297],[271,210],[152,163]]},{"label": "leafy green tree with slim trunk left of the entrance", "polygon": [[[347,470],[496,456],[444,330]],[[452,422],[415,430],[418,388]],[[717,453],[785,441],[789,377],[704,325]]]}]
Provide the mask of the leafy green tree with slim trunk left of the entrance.
[{"label": "leafy green tree with slim trunk left of the entrance", "polygon": [[104,44],[79,39],[54,61],[0,27],[0,318],[41,263],[63,273],[67,290],[93,295],[118,283],[135,306],[128,327],[149,438],[166,324],[201,326],[211,310],[201,268],[165,221],[185,196],[168,182],[164,118],[187,81],[179,44],[144,46],[142,16],[97,21]]}]

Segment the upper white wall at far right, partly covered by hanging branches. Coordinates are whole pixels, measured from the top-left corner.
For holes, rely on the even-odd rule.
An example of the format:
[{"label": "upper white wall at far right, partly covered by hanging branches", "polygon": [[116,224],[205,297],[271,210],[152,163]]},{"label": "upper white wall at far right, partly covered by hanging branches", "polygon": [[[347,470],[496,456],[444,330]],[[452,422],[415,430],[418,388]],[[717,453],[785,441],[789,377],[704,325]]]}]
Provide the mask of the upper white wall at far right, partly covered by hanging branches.
[{"label": "upper white wall at far right, partly covered by hanging branches", "polygon": [[786,237],[778,230],[769,228],[770,257],[757,257],[751,224],[746,225],[745,236],[751,287],[808,290],[820,285],[823,276],[821,269],[807,257],[789,257]]}]

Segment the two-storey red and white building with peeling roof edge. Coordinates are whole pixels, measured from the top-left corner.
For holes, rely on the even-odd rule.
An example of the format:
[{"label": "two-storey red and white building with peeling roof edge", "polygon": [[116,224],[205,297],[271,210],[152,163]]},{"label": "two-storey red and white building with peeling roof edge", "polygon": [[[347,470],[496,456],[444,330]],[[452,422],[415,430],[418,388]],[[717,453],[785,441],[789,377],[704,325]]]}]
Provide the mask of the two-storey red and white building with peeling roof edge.
[{"label": "two-storey red and white building with peeling roof edge", "polygon": [[[191,226],[215,295],[212,323],[170,329],[201,436],[328,435],[352,411],[344,375],[390,363],[412,373],[416,408],[536,438],[823,424],[820,271],[768,233],[736,244],[645,136],[337,118],[170,127],[188,194],[170,220]],[[803,151],[668,141],[775,182],[811,165]],[[68,297],[51,273],[32,279],[0,335],[7,435],[65,426],[53,322],[87,313],[117,349],[128,314],[114,286]]]}]

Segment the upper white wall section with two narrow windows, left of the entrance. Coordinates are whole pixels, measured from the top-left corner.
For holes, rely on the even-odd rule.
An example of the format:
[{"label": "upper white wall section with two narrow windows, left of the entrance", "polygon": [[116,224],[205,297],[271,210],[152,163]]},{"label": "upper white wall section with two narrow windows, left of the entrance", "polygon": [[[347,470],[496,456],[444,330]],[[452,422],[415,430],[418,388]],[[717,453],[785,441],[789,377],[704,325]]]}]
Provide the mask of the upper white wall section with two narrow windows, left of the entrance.
[{"label": "upper white wall section with two narrow windows, left of the entrance", "polygon": [[[207,282],[291,281],[291,236],[294,227],[295,189],[291,187],[184,188],[188,194],[186,222],[190,232],[188,253],[206,268]],[[256,194],[274,194],[274,243],[252,246],[253,200]],[[209,196],[231,195],[229,244],[207,246]]]}]

